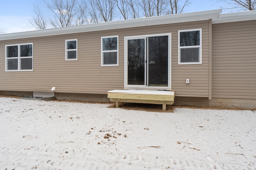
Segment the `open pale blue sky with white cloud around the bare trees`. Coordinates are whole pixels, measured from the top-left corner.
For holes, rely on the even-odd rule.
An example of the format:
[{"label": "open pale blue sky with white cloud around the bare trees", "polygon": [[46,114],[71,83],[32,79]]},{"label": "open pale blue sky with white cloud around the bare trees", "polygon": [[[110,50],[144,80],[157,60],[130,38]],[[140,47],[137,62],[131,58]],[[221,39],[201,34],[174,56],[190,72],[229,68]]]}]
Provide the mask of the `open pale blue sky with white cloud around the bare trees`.
[{"label": "open pale blue sky with white cloud around the bare trees", "polygon": [[[182,0],[183,2],[184,0]],[[185,8],[184,12],[198,12],[227,8],[226,4],[216,3],[217,0],[191,0],[192,4]],[[51,0],[48,0],[51,2]],[[1,0],[0,2],[0,30],[4,33],[15,33],[36,30],[29,22],[34,16],[33,3],[38,4],[44,16],[50,18],[51,12],[45,8],[43,0]],[[222,10],[222,13],[230,12]],[[50,24],[48,24],[50,28]]]}]

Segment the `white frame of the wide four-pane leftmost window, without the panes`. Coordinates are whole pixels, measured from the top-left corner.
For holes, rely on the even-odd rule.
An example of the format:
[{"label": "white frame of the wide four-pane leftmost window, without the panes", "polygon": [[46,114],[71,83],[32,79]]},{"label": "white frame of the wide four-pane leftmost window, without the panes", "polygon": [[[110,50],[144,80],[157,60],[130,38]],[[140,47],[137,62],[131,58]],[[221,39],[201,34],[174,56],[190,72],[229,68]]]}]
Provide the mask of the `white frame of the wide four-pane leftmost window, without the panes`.
[{"label": "white frame of the wide four-pane leftmost window, without the panes", "polygon": [[[21,57],[20,56],[20,46],[21,45],[32,45],[32,56],[25,56],[25,57]],[[18,57],[7,57],[7,47],[10,46],[18,46]],[[33,71],[34,69],[34,60],[33,60],[33,56],[34,56],[34,49],[33,49],[33,43],[21,43],[21,44],[10,44],[10,45],[5,45],[5,71],[9,72],[9,71]],[[21,59],[32,59],[32,69],[21,69]],[[18,68],[17,70],[8,70],[8,59],[17,59],[18,60]]]}]

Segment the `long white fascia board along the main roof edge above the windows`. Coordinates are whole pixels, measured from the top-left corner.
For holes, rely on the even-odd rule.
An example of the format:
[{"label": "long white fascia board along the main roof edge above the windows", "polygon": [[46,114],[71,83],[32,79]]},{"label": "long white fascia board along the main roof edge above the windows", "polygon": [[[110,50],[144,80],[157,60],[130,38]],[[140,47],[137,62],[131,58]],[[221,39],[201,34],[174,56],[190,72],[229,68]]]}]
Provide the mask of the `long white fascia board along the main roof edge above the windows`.
[{"label": "long white fascia board along the main roof edge above the windows", "polygon": [[136,19],[130,19],[130,20],[110,21],[110,22],[104,22],[104,23],[93,23],[93,24],[76,25],[76,26],[70,26],[70,27],[42,29],[37,31],[2,34],[0,35],[0,41],[9,40],[9,39],[44,37],[44,36],[51,36],[51,35],[64,35],[64,34],[70,34],[70,33],[82,33],[82,32],[90,32],[90,31],[103,31],[103,30],[121,29],[121,28],[129,28],[129,27],[142,27],[142,26],[149,26],[149,25],[161,25],[161,24],[168,24],[168,23],[202,21],[202,20],[217,18],[221,12],[222,12],[221,9],[209,10],[209,11],[202,11],[202,12],[191,12],[191,13],[173,14],[173,15],[166,15],[166,16],[154,16],[154,17],[136,18]]}]

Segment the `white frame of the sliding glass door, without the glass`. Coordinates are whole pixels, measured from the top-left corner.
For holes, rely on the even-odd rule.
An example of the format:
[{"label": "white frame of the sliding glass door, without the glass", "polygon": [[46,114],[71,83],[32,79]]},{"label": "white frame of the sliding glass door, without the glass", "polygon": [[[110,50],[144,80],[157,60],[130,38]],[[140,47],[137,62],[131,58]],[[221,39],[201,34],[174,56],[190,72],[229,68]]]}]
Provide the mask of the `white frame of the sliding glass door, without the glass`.
[{"label": "white frame of the sliding glass door, without the glass", "polygon": [[[145,39],[147,37],[156,37],[156,36],[168,36],[168,86],[146,86],[146,83],[144,83],[144,85],[128,85],[128,56],[127,56],[127,41],[129,39]],[[149,35],[138,35],[138,36],[128,36],[128,37],[124,37],[124,89],[146,89],[146,90],[171,90],[171,66],[172,66],[172,56],[171,56],[171,49],[172,49],[172,44],[171,44],[171,40],[172,40],[172,33],[160,33],[160,34],[149,34]],[[145,49],[146,49],[146,41],[145,41]],[[146,53],[145,53],[145,60],[146,60]],[[145,74],[146,74],[146,66],[145,66]],[[145,80],[146,82],[146,75],[145,75]]]}]

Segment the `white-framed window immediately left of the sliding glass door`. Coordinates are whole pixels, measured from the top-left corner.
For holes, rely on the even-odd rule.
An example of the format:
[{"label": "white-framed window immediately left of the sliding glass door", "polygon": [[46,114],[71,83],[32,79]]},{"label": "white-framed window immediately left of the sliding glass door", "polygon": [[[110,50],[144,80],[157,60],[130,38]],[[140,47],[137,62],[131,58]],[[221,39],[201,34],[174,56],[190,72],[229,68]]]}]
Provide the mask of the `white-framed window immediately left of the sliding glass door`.
[{"label": "white-framed window immediately left of the sliding glass door", "polygon": [[118,35],[101,37],[101,66],[118,66]]}]

